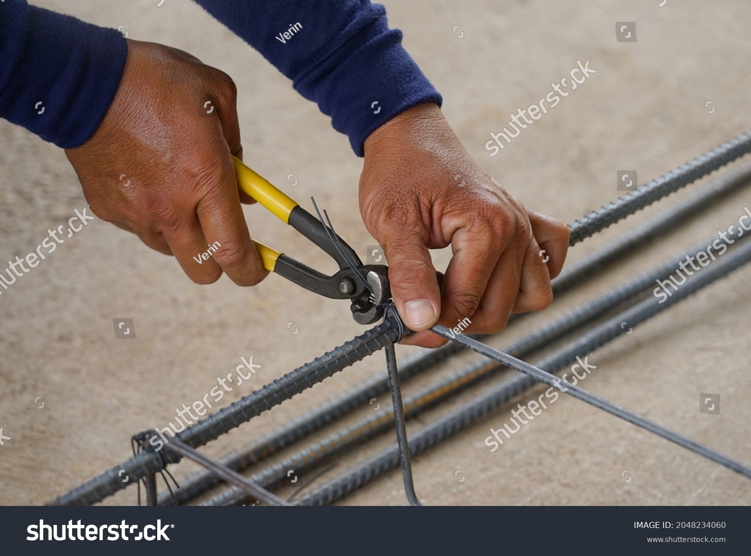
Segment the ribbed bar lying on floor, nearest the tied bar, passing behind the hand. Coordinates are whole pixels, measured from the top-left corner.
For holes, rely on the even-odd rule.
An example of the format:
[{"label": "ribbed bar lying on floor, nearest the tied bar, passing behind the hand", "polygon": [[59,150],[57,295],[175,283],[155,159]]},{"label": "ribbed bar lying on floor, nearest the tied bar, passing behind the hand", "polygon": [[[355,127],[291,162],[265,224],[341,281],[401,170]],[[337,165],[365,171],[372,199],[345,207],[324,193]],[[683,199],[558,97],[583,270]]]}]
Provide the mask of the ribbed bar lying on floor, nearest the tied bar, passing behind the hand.
[{"label": "ribbed bar lying on floor, nearest the tied bar, passing behind the hand", "polygon": [[[570,290],[584,278],[601,271],[608,264],[614,263],[620,257],[629,254],[633,249],[649,242],[657,234],[671,230],[691,216],[707,210],[712,203],[747,186],[749,179],[751,179],[751,165],[749,164],[745,164],[732,173],[716,179],[697,193],[665,209],[655,218],[650,218],[644,224],[629,230],[605,247],[599,248],[571,266],[567,266],[563,269],[561,275],[553,280],[553,293],[557,296]],[[415,356],[409,357],[401,363],[399,368],[400,380],[409,380],[409,378],[421,374],[432,368],[433,365],[438,365],[463,349],[459,344],[449,342],[436,350],[415,354]],[[333,420],[345,416],[370,399],[378,397],[386,392],[388,387],[386,377],[372,377],[363,382],[362,385],[355,386],[348,392],[344,392],[333,400],[303,413],[286,425],[282,425],[270,434],[261,437],[240,454],[223,458],[222,462],[231,469],[246,470]],[[219,484],[219,479],[213,473],[197,473],[181,483],[181,488],[174,493],[174,497],[177,503],[185,503]],[[162,492],[159,496],[159,503],[171,505],[173,503],[172,495],[167,491]]]}]

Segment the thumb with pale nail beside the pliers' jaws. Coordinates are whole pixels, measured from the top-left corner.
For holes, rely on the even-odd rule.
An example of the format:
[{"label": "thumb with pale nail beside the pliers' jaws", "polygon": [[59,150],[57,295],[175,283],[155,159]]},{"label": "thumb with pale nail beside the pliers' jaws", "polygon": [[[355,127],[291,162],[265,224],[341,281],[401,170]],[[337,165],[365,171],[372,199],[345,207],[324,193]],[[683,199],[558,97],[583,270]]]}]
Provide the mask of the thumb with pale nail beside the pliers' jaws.
[{"label": "thumb with pale nail beside the pliers' jaws", "polygon": [[400,317],[415,332],[429,329],[441,314],[441,290],[425,239],[399,229],[382,235],[382,242],[391,295]]}]

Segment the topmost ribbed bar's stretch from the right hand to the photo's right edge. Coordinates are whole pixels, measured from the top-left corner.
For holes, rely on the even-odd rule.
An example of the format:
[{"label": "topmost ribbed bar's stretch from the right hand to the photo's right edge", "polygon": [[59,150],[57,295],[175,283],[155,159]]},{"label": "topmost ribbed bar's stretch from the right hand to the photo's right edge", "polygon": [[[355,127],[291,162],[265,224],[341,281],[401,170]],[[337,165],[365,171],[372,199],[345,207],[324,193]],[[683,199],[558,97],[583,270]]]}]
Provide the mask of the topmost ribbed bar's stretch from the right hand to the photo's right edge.
[{"label": "topmost ribbed bar's stretch from the right hand to the photo's right edge", "polygon": [[707,176],[714,170],[725,166],[736,158],[751,152],[751,132],[740,134],[727,143],[704,153],[692,161],[677,167],[675,170],[653,179],[635,191],[619,197],[601,208],[584,215],[571,225],[571,239],[569,245],[575,245],[583,239],[593,236],[611,224],[644,209],[657,200],[666,197],[680,188]]}]

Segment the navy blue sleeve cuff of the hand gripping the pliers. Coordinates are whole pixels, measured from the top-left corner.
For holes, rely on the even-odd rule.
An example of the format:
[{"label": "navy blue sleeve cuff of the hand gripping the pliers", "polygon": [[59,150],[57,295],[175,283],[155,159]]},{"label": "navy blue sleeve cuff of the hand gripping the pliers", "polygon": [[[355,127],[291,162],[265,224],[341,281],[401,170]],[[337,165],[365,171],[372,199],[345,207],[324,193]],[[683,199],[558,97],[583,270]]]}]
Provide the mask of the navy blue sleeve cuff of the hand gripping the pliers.
[{"label": "navy blue sleeve cuff of the hand gripping the pliers", "polygon": [[0,4],[0,116],[65,149],[86,143],[115,96],[127,57],[115,29]]}]

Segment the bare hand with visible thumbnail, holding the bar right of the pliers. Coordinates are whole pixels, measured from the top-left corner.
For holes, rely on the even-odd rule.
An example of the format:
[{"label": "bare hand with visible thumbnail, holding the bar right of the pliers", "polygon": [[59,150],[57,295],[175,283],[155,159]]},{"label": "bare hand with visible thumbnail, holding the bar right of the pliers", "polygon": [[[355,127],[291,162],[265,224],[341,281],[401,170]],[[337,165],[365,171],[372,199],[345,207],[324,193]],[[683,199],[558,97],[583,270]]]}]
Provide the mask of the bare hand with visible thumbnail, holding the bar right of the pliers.
[{"label": "bare hand with visible thumbnail, holding the bar right of the pliers", "polygon": [[[406,326],[436,322],[499,332],[511,313],[546,308],[569,227],[527,212],[466,152],[436,104],[391,119],[365,141],[360,212],[384,249],[391,293]],[[442,287],[429,248],[451,245]],[[464,319],[469,319],[468,325]],[[437,347],[418,332],[405,343]]]}]

